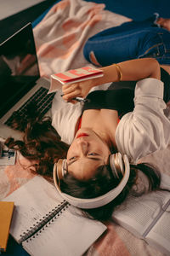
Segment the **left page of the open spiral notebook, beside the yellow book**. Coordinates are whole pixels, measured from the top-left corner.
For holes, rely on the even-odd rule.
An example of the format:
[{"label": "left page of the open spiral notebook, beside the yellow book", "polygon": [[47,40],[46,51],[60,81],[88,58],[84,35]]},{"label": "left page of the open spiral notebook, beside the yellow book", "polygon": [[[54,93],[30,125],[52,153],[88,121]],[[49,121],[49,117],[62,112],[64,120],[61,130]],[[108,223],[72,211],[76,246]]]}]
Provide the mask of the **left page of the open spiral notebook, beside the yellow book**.
[{"label": "left page of the open spiral notebook, beside the yellow book", "polygon": [[37,225],[62,199],[52,184],[37,176],[8,195],[4,201],[14,201],[10,234],[19,242],[23,233]]}]

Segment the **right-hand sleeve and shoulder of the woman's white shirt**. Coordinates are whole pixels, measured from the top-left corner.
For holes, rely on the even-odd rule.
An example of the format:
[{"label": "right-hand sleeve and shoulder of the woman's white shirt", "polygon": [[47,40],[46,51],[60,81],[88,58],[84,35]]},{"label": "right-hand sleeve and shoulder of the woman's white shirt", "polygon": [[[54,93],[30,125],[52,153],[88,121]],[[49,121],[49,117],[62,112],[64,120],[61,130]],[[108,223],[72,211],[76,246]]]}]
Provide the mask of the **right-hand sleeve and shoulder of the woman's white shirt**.
[{"label": "right-hand sleeve and shoulder of the woman's white shirt", "polygon": [[163,112],[167,108],[163,89],[160,80],[140,80],[135,87],[133,112],[125,114],[117,126],[118,151],[134,163],[169,144],[170,121]]}]

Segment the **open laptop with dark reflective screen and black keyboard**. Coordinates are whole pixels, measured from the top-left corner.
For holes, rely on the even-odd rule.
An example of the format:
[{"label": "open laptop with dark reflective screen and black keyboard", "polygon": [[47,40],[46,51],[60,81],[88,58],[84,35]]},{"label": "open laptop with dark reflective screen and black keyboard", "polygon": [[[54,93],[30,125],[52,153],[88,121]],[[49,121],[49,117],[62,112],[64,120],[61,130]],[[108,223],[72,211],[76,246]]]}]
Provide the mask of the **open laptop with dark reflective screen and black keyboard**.
[{"label": "open laptop with dark reflective screen and black keyboard", "polygon": [[[14,114],[26,118],[26,108],[49,115],[54,94],[48,94],[50,80],[40,78],[31,23],[0,44],[0,137],[20,138],[11,127]],[[33,104],[33,105],[31,105]]]}]

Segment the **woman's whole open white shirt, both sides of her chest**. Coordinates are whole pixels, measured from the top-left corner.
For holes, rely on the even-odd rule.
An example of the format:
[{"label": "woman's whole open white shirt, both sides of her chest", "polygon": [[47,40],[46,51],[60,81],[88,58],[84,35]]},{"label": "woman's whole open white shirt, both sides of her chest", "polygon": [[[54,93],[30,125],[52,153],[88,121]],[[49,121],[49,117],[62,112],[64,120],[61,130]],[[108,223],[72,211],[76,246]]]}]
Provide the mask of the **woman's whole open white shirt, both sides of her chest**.
[{"label": "woman's whole open white shirt, both sides of her chest", "polygon": [[[135,87],[133,112],[125,114],[116,128],[116,145],[121,154],[136,163],[139,158],[161,148],[170,140],[170,121],[163,109],[163,83],[157,79],[140,80]],[[59,94],[54,97],[52,125],[61,140],[71,144],[82,105],[66,103]]]}]

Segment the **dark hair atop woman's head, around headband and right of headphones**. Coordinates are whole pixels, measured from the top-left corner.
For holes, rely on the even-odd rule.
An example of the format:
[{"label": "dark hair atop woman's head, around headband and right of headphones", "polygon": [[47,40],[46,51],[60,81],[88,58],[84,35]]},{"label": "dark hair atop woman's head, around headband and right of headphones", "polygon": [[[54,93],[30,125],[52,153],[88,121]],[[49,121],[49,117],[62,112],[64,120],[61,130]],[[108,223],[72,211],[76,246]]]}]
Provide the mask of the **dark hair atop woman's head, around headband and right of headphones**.
[{"label": "dark hair atop woman's head, around headband and right of headphones", "polygon": [[[139,189],[139,191],[135,190],[135,196],[142,195],[146,191],[159,189],[161,183],[161,173],[156,170],[155,166],[141,163],[139,165],[131,165],[130,168],[130,177],[127,185],[115,200],[111,201],[104,207],[83,210],[83,212],[85,212],[89,218],[98,220],[108,220],[111,218],[114,209],[126,199],[130,191],[133,193],[133,185],[137,181],[137,174],[139,171],[143,172],[144,175],[148,177],[149,187],[143,187],[142,191],[141,189]],[[88,181],[77,180],[68,173],[63,180],[60,181],[60,189],[62,192],[78,198],[95,198],[99,195],[104,195],[111,189],[115,188],[118,183],[120,183],[120,179],[116,179],[113,177],[113,175],[111,175],[111,173],[110,166],[99,166],[97,175]]]}]

